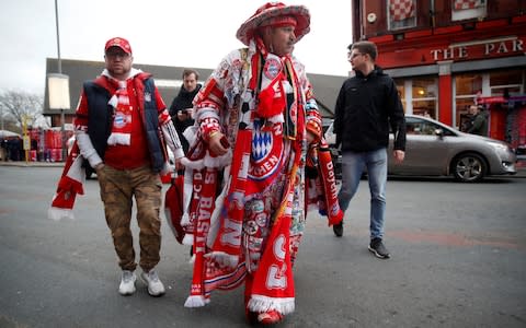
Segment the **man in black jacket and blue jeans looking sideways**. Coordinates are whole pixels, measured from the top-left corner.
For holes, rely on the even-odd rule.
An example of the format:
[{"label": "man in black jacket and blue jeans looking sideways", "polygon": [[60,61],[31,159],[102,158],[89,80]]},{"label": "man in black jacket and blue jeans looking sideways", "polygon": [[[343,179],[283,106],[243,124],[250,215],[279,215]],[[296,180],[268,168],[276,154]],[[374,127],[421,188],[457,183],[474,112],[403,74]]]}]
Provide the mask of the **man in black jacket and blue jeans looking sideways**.
[{"label": "man in black jacket and blue jeans looking sideways", "polygon": [[[370,190],[369,250],[379,258],[389,258],[382,243],[386,211],[387,148],[389,126],[395,134],[393,157],[402,162],[405,151],[405,119],[397,86],[375,65],[378,50],[370,42],[348,46],[348,61],[356,75],[347,79],[336,99],[334,132],[342,147],[342,188],[340,207],[346,210],[367,168]],[[343,235],[343,223],[333,226]]]}]

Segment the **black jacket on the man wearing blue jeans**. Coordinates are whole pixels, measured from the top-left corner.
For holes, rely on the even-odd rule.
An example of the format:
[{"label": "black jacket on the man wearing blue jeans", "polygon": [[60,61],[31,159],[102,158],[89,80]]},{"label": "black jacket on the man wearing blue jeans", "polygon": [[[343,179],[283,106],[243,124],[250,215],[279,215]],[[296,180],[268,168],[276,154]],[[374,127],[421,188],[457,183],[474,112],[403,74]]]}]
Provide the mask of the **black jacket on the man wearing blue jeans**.
[{"label": "black jacket on the man wearing blue jeans", "polygon": [[375,67],[367,77],[356,71],[340,90],[334,133],[342,151],[375,151],[389,144],[389,125],[395,149],[405,150],[405,118],[395,81]]}]

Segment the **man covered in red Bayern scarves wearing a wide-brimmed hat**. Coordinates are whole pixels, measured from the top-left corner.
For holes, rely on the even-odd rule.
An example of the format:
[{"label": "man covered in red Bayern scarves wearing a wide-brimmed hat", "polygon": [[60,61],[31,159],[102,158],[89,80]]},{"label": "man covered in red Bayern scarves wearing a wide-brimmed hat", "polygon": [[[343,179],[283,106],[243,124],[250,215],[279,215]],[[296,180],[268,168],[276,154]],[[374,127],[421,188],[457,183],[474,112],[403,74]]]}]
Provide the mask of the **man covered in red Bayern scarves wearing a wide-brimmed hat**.
[{"label": "man covered in red Bayern scarves wearing a wide-brimmed hat", "polygon": [[[248,48],[227,55],[194,99],[183,162],[192,195],[183,221],[195,253],[186,307],[204,306],[213,290],[244,281],[249,321],[276,324],[294,312],[291,263],[306,221],[307,154],[323,142],[311,84],[291,55],[309,25],[302,5],[262,5],[237,32]],[[320,176],[333,181],[332,167],[325,168]],[[332,188],[330,224],[343,215]]]}]

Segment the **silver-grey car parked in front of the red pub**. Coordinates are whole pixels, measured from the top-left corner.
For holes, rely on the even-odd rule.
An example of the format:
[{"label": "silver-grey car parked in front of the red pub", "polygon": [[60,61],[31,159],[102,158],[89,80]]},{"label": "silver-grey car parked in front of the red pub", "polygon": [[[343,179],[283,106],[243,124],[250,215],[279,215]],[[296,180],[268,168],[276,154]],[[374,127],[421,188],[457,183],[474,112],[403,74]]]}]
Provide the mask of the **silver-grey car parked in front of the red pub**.
[{"label": "silver-grey car parked in front of the red pub", "polygon": [[[405,159],[392,160],[389,142],[389,175],[449,176],[474,183],[490,175],[516,174],[516,155],[500,140],[460,132],[445,124],[419,115],[405,115]],[[332,127],[327,130],[332,131]],[[325,139],[331,138],[327,136]]]}]

